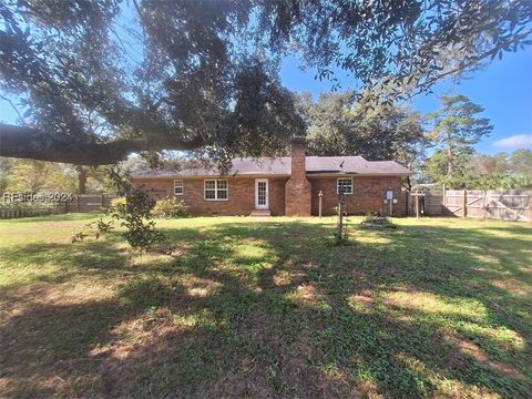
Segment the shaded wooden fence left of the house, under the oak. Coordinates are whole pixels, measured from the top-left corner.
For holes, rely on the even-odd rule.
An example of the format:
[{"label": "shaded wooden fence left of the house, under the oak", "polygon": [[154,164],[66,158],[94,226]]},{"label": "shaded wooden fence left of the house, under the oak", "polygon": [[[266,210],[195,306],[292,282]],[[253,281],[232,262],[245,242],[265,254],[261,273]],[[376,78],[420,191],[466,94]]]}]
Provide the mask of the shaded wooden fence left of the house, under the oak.
[{"label": "shaded wooden fence left of the house, under the oak", "polygon": [[115,197],[115,195],[108,194],[76,194],[72,195],[72,201],[43,203],[35,206],[32,206],[31,203],[22,203],[20,206],[12,208],[0,208],[0,218],[99,212],[102,208],[110,207],[111,201]]}]

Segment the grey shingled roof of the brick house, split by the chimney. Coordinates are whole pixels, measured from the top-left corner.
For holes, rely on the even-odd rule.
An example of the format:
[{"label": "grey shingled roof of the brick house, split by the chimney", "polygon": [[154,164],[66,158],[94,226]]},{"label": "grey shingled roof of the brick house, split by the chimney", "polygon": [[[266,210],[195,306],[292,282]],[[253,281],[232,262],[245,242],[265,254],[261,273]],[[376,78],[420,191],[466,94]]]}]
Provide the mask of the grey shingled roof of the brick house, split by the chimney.
[{"label": "grey shingled roof of the brick house, split by the chimney", "polygon": [[[236,158],[228,171],[228,176],[289,176],[291,160],[278,158]],[[410,175],[411,172],[395,161],[366,161],[361,156],[307,156],[307,175],[359,174],[359,175]],[[219,176],[216,166],[197,168],[139,170],[132,177],[204,177]]]}]

